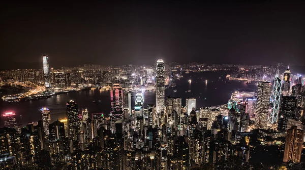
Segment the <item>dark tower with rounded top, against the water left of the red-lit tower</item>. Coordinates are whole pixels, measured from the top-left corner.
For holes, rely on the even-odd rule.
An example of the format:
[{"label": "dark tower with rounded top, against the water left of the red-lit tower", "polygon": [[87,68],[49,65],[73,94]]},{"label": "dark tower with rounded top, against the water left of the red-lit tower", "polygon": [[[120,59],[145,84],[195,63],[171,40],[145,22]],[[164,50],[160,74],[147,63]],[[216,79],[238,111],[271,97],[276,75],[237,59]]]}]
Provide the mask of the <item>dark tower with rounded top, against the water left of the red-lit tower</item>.
[{"label": "dark tower with rounded top, against the water left of the red-lit tower", "polygon": [[73,100],[66,104],[67,119],[69,126],[69,139],[77,140],[80,134],[80,123],[78,117],[78,106]]}]

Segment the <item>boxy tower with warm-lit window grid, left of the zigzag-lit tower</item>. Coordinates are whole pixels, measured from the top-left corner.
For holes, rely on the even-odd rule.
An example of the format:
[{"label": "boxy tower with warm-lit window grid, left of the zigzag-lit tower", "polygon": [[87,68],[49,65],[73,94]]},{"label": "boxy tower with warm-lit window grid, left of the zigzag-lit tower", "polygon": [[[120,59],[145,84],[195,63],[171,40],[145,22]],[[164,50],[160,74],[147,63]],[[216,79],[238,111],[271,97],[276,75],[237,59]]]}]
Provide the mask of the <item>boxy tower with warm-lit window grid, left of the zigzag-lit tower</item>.
[{"label": "boxy tower with warm-lit window grid, left of the zigzag-lit tower", "polygon": [[260,81],[258,83],[257,103],[255,107],[255,127],[257,129],[267,129],[270,90],[270,82]]}]

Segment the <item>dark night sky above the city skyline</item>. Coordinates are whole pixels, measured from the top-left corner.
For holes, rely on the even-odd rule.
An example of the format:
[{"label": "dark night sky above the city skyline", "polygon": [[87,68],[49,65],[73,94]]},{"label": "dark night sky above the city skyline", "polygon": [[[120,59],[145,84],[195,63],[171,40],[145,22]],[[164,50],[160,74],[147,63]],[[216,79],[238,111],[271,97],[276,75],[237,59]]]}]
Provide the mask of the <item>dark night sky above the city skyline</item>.
[{"label": "dark night sky above the city skyline", "polygon": [[[48,3],[47,3],[48,2]],[[305,64],[304,1],[0,4],[0,69]]]}]

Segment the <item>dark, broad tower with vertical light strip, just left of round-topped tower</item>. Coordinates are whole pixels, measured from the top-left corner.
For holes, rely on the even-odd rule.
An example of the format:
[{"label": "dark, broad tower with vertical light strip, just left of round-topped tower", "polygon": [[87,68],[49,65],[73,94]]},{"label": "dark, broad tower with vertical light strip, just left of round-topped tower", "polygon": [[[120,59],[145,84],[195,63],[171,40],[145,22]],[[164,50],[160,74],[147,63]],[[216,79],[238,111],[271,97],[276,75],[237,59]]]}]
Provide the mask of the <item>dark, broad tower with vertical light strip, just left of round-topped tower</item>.
[{"label": "dark, broad tower with vertical light strip, just left of round-topped tower", "polygon": [[49,125],[50,141],[64,139],[65,135],[65,124],[59,120],[54,121]]}]

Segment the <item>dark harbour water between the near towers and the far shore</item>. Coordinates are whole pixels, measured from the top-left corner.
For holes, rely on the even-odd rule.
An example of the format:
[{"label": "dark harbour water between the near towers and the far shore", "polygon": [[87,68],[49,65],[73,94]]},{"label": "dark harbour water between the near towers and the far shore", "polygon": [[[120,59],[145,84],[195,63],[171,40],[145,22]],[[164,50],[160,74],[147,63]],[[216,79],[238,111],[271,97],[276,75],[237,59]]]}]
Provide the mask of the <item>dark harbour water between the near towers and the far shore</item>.
[{"label": "dark harbour water between the near towers and the far shore", "polygon": [[[244,81],[226,79],[226,71],[190,72],[184,77],[175,80],[176,87],[165,90],[165,96],[181,97],[182,106],[185,106],[185,99],[196,98],[196,107],[215,106],[226,103],[232,92],[238,89],[255,89],[256,86],[248,85]],[[191,83],[189,80],[191,79]],[[176,92],[174,92],[176,90]],[[135,94],[133,94],[135,96]],[[89,113],[104,112],[107,116],[110,112],[110,92],[100,90],[84,90],[52,96],[47,99],[26,101],[26,102],[4,102],[0,101],[0,113],[13,111],[18,115],[18,123],[25,125],[28,122],[41,119],[39,111],[42,107],[50,109],[51,120],[66,117],[66,103],[74,100],[78,103],[79,110],[87,108]],[[147,104],[155,104],[154,92],[144,93],[144,107]],[[95,101],[95,102],[93,102]],[[99,102],[100,101],[100,102]],[[132,98],[132,107],[134,97]],[[3,121],[1,121],[3,125]]]}]

